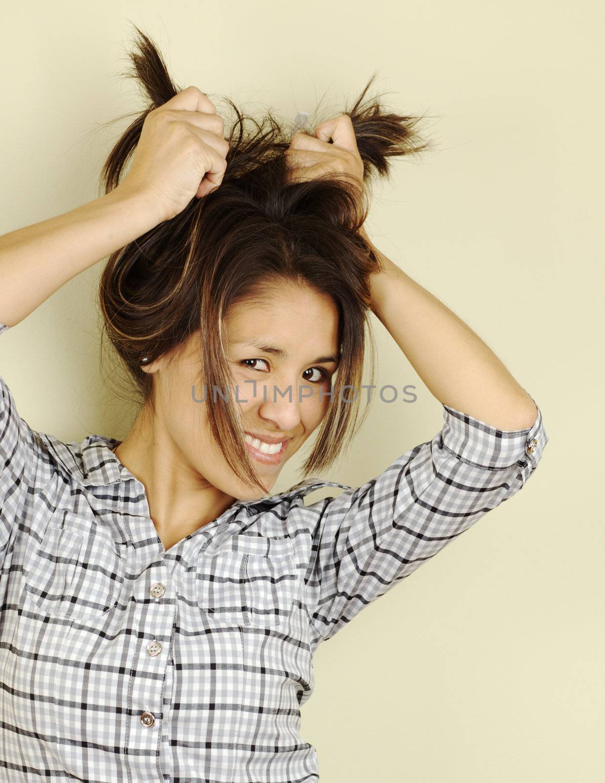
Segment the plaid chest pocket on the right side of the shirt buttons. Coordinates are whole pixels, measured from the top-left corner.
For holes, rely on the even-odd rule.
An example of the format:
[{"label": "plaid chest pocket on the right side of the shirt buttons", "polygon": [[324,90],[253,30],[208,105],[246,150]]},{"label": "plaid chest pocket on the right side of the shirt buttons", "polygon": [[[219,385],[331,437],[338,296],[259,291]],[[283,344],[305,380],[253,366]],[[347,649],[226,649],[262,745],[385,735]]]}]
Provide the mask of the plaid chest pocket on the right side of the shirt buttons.
[{"label": "plaid chest pocket on the right side of the shirt buttons", "polygon": [[274,628],[292,612],[298,571],[289,538],[230,536],[199,553],[199,608],[222,626]]}]

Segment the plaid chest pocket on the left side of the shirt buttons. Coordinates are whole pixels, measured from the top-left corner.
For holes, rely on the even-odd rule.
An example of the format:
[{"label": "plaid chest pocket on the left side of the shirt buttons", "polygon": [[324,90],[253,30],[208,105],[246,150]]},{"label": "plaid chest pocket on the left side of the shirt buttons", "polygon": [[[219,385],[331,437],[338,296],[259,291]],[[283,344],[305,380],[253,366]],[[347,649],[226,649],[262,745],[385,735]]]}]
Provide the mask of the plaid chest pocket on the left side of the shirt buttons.
[{"label": "plaid chest pocket on the left side of the shirt buttons", "polygon": [[125,547],[98,522],[63,511],[26,557],[26,590],[45,615],[83,620],[104,615],[120,596]]}]

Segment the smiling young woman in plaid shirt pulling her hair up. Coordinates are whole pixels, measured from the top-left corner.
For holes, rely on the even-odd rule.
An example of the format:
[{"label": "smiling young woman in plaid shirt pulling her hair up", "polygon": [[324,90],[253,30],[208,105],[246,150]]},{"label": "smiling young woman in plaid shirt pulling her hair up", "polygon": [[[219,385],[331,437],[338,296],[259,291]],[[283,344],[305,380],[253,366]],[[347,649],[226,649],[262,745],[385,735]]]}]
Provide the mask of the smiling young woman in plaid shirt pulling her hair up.
[{"label": "smiling young woman in plaid shirt pulling her hair up", "polygon": [[[152,110],[106,195],[0,239],[0,331],[109,255],[101,312],[140,402],[124,441],[65,443],[2,381],[2,779],[317,781],[299,707],[318,644],[517,493],[546,431],[363,229],[372,169],[421,149],[412,118],[364,91],[314,135],[238,114],[226,140],[138,32]],[[370,310],[445,423],[350,488],[309,474],[359,427]],[[270,495],[313,433],[307,478]]]}]

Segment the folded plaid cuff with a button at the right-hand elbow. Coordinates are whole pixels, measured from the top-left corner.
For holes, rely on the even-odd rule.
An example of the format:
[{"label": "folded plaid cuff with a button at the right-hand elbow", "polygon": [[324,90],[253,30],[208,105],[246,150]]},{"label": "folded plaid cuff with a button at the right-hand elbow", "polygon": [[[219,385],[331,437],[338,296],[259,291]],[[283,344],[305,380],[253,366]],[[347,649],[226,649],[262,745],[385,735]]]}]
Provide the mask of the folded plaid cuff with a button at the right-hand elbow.
[{"label": "folded plaid cuff with a button at the right-hand elbow", "polygon": [[542,424],[542,412],[537,402],[535,406],[538,414],[531,427],[524,430],[499,430],[485,424],[485,421],[443,405],[445,424],[442,428],[442,444],[458,459],[478,467],[499,470],[518,464],[527,465],[531,472],[548,441]]}]

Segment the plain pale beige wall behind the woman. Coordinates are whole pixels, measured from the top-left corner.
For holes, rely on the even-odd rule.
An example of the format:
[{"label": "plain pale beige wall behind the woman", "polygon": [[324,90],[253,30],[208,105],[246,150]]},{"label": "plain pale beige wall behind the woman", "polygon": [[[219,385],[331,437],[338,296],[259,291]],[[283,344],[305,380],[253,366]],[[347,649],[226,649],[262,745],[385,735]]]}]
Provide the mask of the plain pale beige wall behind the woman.
[{"label": "plain pale beige wall behind the woman", "polygon": [[[603,5],[538,2],[13,4],[2,31],[0,233],[98,195],[138,93],[130,21],[181,87],[292,118],[340,114],[378,68],[436,143],[378,183],[368,232],[539,403],[550,443],[509,502],[371,604],[314,659],[302,736],[323,783],[603,781]],[[124,437],[98,366],[102,262],[2,337],[20,415],[64,441]],[[327,478],[359,485],[442,427],[380,323],[374,404]],[[291,485],[295,465],[276,491]]]}]

